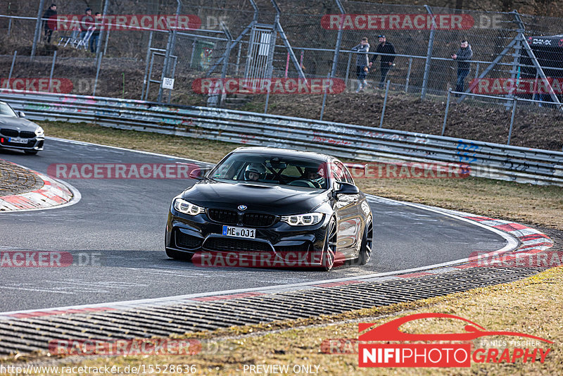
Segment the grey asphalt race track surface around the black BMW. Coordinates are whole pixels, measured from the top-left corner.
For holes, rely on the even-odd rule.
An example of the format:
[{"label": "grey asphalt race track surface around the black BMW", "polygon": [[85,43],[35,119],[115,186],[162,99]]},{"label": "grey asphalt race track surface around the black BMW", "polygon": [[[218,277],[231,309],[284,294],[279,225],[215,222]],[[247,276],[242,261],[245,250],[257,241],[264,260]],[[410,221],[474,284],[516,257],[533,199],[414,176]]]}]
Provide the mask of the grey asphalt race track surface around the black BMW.
[{"label": "grey asphalt race track surface around the black BMW", "polygon": [[[0,151],[0,158],[42,173],[51,163],[182,162],[178,158],[53,139],[46,141],[45,150],[37,156]],[[168,206],[172,197],[191,182],[65,181],[82,194],[75,205],[0,213],[0,251],[68,251],[83,265],[0,268],[1,312],[355,277],[454,261],[474,251],[495,251],[507,244],[500,235],[462,220],[373,200],[374,251],[378,254],[364,267],[346,265],[329,273],[202,268],[172,261],[164,252]]]}]

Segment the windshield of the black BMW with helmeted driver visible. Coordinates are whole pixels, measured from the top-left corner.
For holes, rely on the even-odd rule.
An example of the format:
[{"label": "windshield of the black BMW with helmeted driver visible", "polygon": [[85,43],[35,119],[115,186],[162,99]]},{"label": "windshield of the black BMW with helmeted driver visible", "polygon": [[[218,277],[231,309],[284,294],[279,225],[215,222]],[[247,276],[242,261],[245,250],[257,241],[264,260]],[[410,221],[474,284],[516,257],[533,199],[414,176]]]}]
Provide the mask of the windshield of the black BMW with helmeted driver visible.
[{"label": "windshield of the black BMW with helmeted driver visible", "polygon": [[232,153],[209,177],[215,180],[260,182],[327,189],[326,163],[274,153]]}]

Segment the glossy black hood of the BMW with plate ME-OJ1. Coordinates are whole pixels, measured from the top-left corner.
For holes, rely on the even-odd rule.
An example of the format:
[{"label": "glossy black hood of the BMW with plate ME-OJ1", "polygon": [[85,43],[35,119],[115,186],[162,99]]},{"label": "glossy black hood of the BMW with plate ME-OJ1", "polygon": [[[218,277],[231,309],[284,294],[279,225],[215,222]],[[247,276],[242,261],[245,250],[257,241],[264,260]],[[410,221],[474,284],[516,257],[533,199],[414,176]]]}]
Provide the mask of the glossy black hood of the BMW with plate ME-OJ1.
[{"label": "glossy black hood of the BMW with plate ME-OJ1", "polygon": [[186,189],[182,198],[205,208],[237,210],[239,205],[246,205],[246,211],[289,215],[312,211],[328,200],[328,192],[273,184],[203,180]]}]

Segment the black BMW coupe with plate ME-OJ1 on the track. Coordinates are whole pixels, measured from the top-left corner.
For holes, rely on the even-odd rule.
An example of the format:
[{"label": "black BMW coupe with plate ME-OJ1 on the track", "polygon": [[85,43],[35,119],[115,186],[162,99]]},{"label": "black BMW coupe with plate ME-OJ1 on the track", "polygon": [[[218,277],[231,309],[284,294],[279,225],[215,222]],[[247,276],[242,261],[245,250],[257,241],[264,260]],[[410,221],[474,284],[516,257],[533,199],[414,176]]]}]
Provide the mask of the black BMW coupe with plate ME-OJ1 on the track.
[{"label": "black BMW coupe with plate ME-OJ1 on the track", "polygon": [[203,266],[365,265],[373,215],[350,172],[331,156],[245,147],[172,199],[165,249]]}]

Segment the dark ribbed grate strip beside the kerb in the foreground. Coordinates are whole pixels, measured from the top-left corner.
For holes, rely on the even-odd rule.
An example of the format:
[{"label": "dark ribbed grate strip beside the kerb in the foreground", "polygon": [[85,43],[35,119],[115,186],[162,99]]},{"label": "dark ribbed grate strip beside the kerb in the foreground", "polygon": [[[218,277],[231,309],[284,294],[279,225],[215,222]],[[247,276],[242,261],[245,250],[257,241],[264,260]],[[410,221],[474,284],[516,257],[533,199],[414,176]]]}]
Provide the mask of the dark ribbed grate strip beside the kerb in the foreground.
[{"label": "dark ribbed grate strip beside the kerb in the foreground", "polygon": [[422,277],[315,287],[221,301],[0,321],[0,353],[48,349],[53,339],[167,337],[232,325],[311,318],[514,282],[543,268],[468,268]]}]

